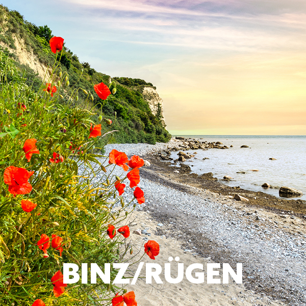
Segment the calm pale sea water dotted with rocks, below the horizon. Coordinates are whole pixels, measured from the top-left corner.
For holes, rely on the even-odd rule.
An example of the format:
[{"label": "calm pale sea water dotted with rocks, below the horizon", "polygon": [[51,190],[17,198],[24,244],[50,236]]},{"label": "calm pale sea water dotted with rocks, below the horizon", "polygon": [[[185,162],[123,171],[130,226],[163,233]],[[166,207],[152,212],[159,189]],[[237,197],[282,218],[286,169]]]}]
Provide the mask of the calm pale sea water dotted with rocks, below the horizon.
[{"label": "calm pale sea water dotted with rocks, below the horizon", "polygon": [[[264,191],[278,196],[278,189],[263,189],[262,184],[287,186],[303,192],[300,199],[306,200],[306,136],[184,136],[203,138],[201,141],[221,141],[230,149],[189,150],[197,152],[195,158],[184,162],[197,174],[212,172],[222,179],[233,177],[229,186]],[[249,148],[240,148],[248,145]],[[187,151],[186,151],[187,152]],[[177,152],[172,152],[177,158]],[[208,157],[207,160],[202,160]],[[275,158],[275,161],[269,160]],[[259,171],[251,171],[259,170]],[[237,173],[244,171],[246,174]],[[297,198],[295,198],[297,199]]]}]

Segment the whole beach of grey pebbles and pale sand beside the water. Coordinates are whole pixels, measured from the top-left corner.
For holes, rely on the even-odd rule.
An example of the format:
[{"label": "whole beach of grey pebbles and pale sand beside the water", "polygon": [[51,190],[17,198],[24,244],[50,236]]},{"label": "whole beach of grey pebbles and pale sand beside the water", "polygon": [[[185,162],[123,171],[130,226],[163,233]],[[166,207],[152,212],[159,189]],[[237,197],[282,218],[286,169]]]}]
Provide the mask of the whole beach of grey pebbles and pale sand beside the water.
[{"label": "whole beach of grey pebbles and pale sand beside the water", "polygon": [[[179,256],[180,262],[186,265],[229,263],[235,269],[236,263],[242,263],[243,284],[190,284],[186,280],[176,285],[139,282],[129,285],[130,290],[141,296],[139,304],[305,305],[306,218],[303,214],[273,208],[276,199],[264,193],[245,191],[244,194],[240,190],[246,197],[256,198],[253,202],[244,202],[235,200],[225,189],[219,192],[219,185],[207,188],[205,184],[195,184],[197,177],[178,174],[158,158],[158,153],[173,143],[172,139],[167,144],[106,146],[106,156],[115,148],[128,157],[136,154],[150,163],[140,170],[139,187],[146,201],[141,206],[137,204],[130,217],[136,220],[134,230],[143,234],[131,235],[130,239],[136,248],[141,248],[149,239],[156,240],[161,245],[156,262],[162,266],[170,256]],[[124,176],[123,172],[115,167],[113,174]],[[133,199],[130,189],[126,188],[123,198],[126,202]],[[294,200],[289,201],[294,206]],[[270,202],[273,203],[269,205]]]}]

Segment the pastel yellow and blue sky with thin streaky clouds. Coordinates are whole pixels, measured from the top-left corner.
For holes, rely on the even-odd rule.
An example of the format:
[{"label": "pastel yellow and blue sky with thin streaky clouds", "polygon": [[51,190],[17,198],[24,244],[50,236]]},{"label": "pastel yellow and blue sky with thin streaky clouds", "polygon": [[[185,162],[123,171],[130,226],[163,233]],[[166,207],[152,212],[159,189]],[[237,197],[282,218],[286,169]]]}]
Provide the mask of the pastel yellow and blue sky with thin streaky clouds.
[{"label": "pastel yellow and blue sky with thin streaky clouds", "polygon": [[173,135],[306,135],[305,0],[0,0],[111,77],[157,87]]}]

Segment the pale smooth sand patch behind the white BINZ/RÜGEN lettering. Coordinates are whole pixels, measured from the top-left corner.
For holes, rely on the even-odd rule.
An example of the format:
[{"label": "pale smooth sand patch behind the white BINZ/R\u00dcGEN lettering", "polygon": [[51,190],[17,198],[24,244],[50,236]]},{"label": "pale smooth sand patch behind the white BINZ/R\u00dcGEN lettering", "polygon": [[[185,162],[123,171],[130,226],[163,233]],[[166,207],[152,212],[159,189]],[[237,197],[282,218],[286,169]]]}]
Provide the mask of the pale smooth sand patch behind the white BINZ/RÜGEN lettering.
[{"label": "pale smooth sand patch behind the white BINZ/R\u00dcGEN lettering", "polygon": [[[206,271],[206,264],[212,261],[208,259],[203,259],[199,256],[192,255],[189,251],[184,251],[181,248],[183,241],[177,240],[172,237],[167,239],[162,236],[155,235],[158,233],[159,226],[157,222],[152,220],[149,214],[141,211],[134,211],[130,216],[130,221],[136,218],[134,228],[136,230],[147,229],[151,236],[148,237],[149,240],[155,240],[160,245],[160,254],[156,257],[156,260],[151,260],[146,254],[141,258],[144,252],[143,240],[147,235],[136,235],[131,234],[129,242],[133,244],[133,256],[135,259],[140,259],[144,263],[157,263],[164,267],[165,263],[169,263],[168,258],[171,256],[173,258],[180,257],[180,263],[184,263],[184,269],[191,264],[200,263],[204,264],[204,270]],[[137,254],[139,251],[139,254]],[[136,254],[136,255],[135,255]],[[127,255],[126,258],[132,256]],[[128,261],[129,262],[129,261]],[[138,263],[131,268],[130,275],[133,277]],[[235,267],[233,267],[234,270]],[[144,267],[142,269],[144,271]],[[171,262],[172,277],[176,277],[177,264],[173,260]],[[199,270],[197,270],[199,271]],[[144,277],[144,273],[140,276]],[[222,275],[222,270],[220,269],[220,275]],[[164,284],[156,284],[152,281],[152,284],[146,284],[144,279],[138,278],[135,285],[127,285],[127,291],[134,290],[136,295],[136,300],[140,306],[163,306],[163,305],[285,305],[281,301],[271,301],[268,297],[263,294],[256,294],[251,290],[245,289],[243,284],[236,284],[230,277],[229,284],[207,284],[206,273],[205,273],[205,283],[203,284],[192,284],[190,283],[186,276],[179,284],[169,284],[165,281],[163,272],[160,274],[161,279]]]}]

